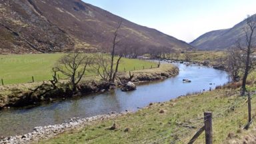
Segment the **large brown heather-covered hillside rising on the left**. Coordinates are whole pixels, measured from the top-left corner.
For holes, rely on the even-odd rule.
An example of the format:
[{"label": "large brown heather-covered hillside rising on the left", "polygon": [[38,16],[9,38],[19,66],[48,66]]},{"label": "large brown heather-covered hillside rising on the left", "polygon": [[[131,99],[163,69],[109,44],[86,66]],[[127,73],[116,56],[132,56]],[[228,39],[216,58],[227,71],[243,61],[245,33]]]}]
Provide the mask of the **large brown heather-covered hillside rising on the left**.
[{"label": "large brown heather-covered hillside rising on the left", "polygon": [[192,49],[175,37],[80,0],[0,0],[0,53],[100,51],[111,44],[119,21],[119,38],[127,49]]}]

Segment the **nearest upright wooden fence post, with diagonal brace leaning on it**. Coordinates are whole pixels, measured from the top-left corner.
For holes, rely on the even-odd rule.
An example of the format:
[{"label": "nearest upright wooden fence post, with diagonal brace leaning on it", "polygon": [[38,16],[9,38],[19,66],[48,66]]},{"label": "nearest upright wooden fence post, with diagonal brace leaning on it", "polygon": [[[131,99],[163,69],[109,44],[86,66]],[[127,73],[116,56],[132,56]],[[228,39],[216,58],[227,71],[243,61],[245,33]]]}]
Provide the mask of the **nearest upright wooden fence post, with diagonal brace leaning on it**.
[{"label": "nearest upright wooden fence post, with diagonal brace leaning on it", "polygon": [[205,120],[205,144],[213,144],[213,127],[211,112],[204,113]]}]

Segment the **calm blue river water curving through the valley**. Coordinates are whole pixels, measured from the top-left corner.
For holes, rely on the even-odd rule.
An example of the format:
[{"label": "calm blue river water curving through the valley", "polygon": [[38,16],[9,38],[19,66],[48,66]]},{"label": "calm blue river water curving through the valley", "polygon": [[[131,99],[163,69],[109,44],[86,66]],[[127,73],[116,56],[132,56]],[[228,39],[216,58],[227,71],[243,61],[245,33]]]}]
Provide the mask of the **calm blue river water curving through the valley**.
[{"label": "calm blue river water curving through the valley", "polygon": [[[229,81],[225,71],[175,63],[179,75],[173,78],[137,86],[137,90],[122,92],[120,89],[106,93],[68,99],[38,107],[5,109],[0,111],[0,136],[14,136],[31,132],[34,127],[63,123],[71,117],[91,117],[111,111],[136,111],[152,102],[175,99],[187,93],[215,89]],[[183,83],[189,79],[191,83]]]}]

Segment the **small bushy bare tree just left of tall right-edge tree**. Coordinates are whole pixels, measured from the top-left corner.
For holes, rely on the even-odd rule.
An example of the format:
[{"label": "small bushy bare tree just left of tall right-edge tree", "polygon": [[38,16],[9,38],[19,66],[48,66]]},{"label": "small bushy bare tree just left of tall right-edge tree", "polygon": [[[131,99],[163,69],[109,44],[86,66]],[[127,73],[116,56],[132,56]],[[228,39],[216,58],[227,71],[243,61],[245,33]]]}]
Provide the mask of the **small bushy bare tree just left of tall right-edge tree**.
[{"label": "small bushy bare tree just left of tall right-edge tree", "polygon": [[241,51],[235,47],[227,49],[227,71],[229,71],[233,81],[239,81],[241,71]]}]

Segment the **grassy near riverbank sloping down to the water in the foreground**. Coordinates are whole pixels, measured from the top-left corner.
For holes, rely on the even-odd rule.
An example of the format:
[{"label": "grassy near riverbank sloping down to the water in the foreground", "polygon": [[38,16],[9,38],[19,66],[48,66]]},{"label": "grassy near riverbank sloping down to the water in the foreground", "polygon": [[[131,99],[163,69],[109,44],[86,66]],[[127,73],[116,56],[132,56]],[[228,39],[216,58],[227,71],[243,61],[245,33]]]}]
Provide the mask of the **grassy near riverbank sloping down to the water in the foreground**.
[{"label": "grassy near riverbank sloping down to the water in the foreground", "polygon": [[[255,95],[252,103],[256,103]],[[227,143],[238,137],[247,123],[245,97],[238,89],[217,89],[187,95],[83,128],[66,131],[40,143],[188,143],[203,126],[203,112],[213,112],[214,143]],[[109,130],[113,123],[117,129]],[[197,143],[205,141],[203,135]]]}]

